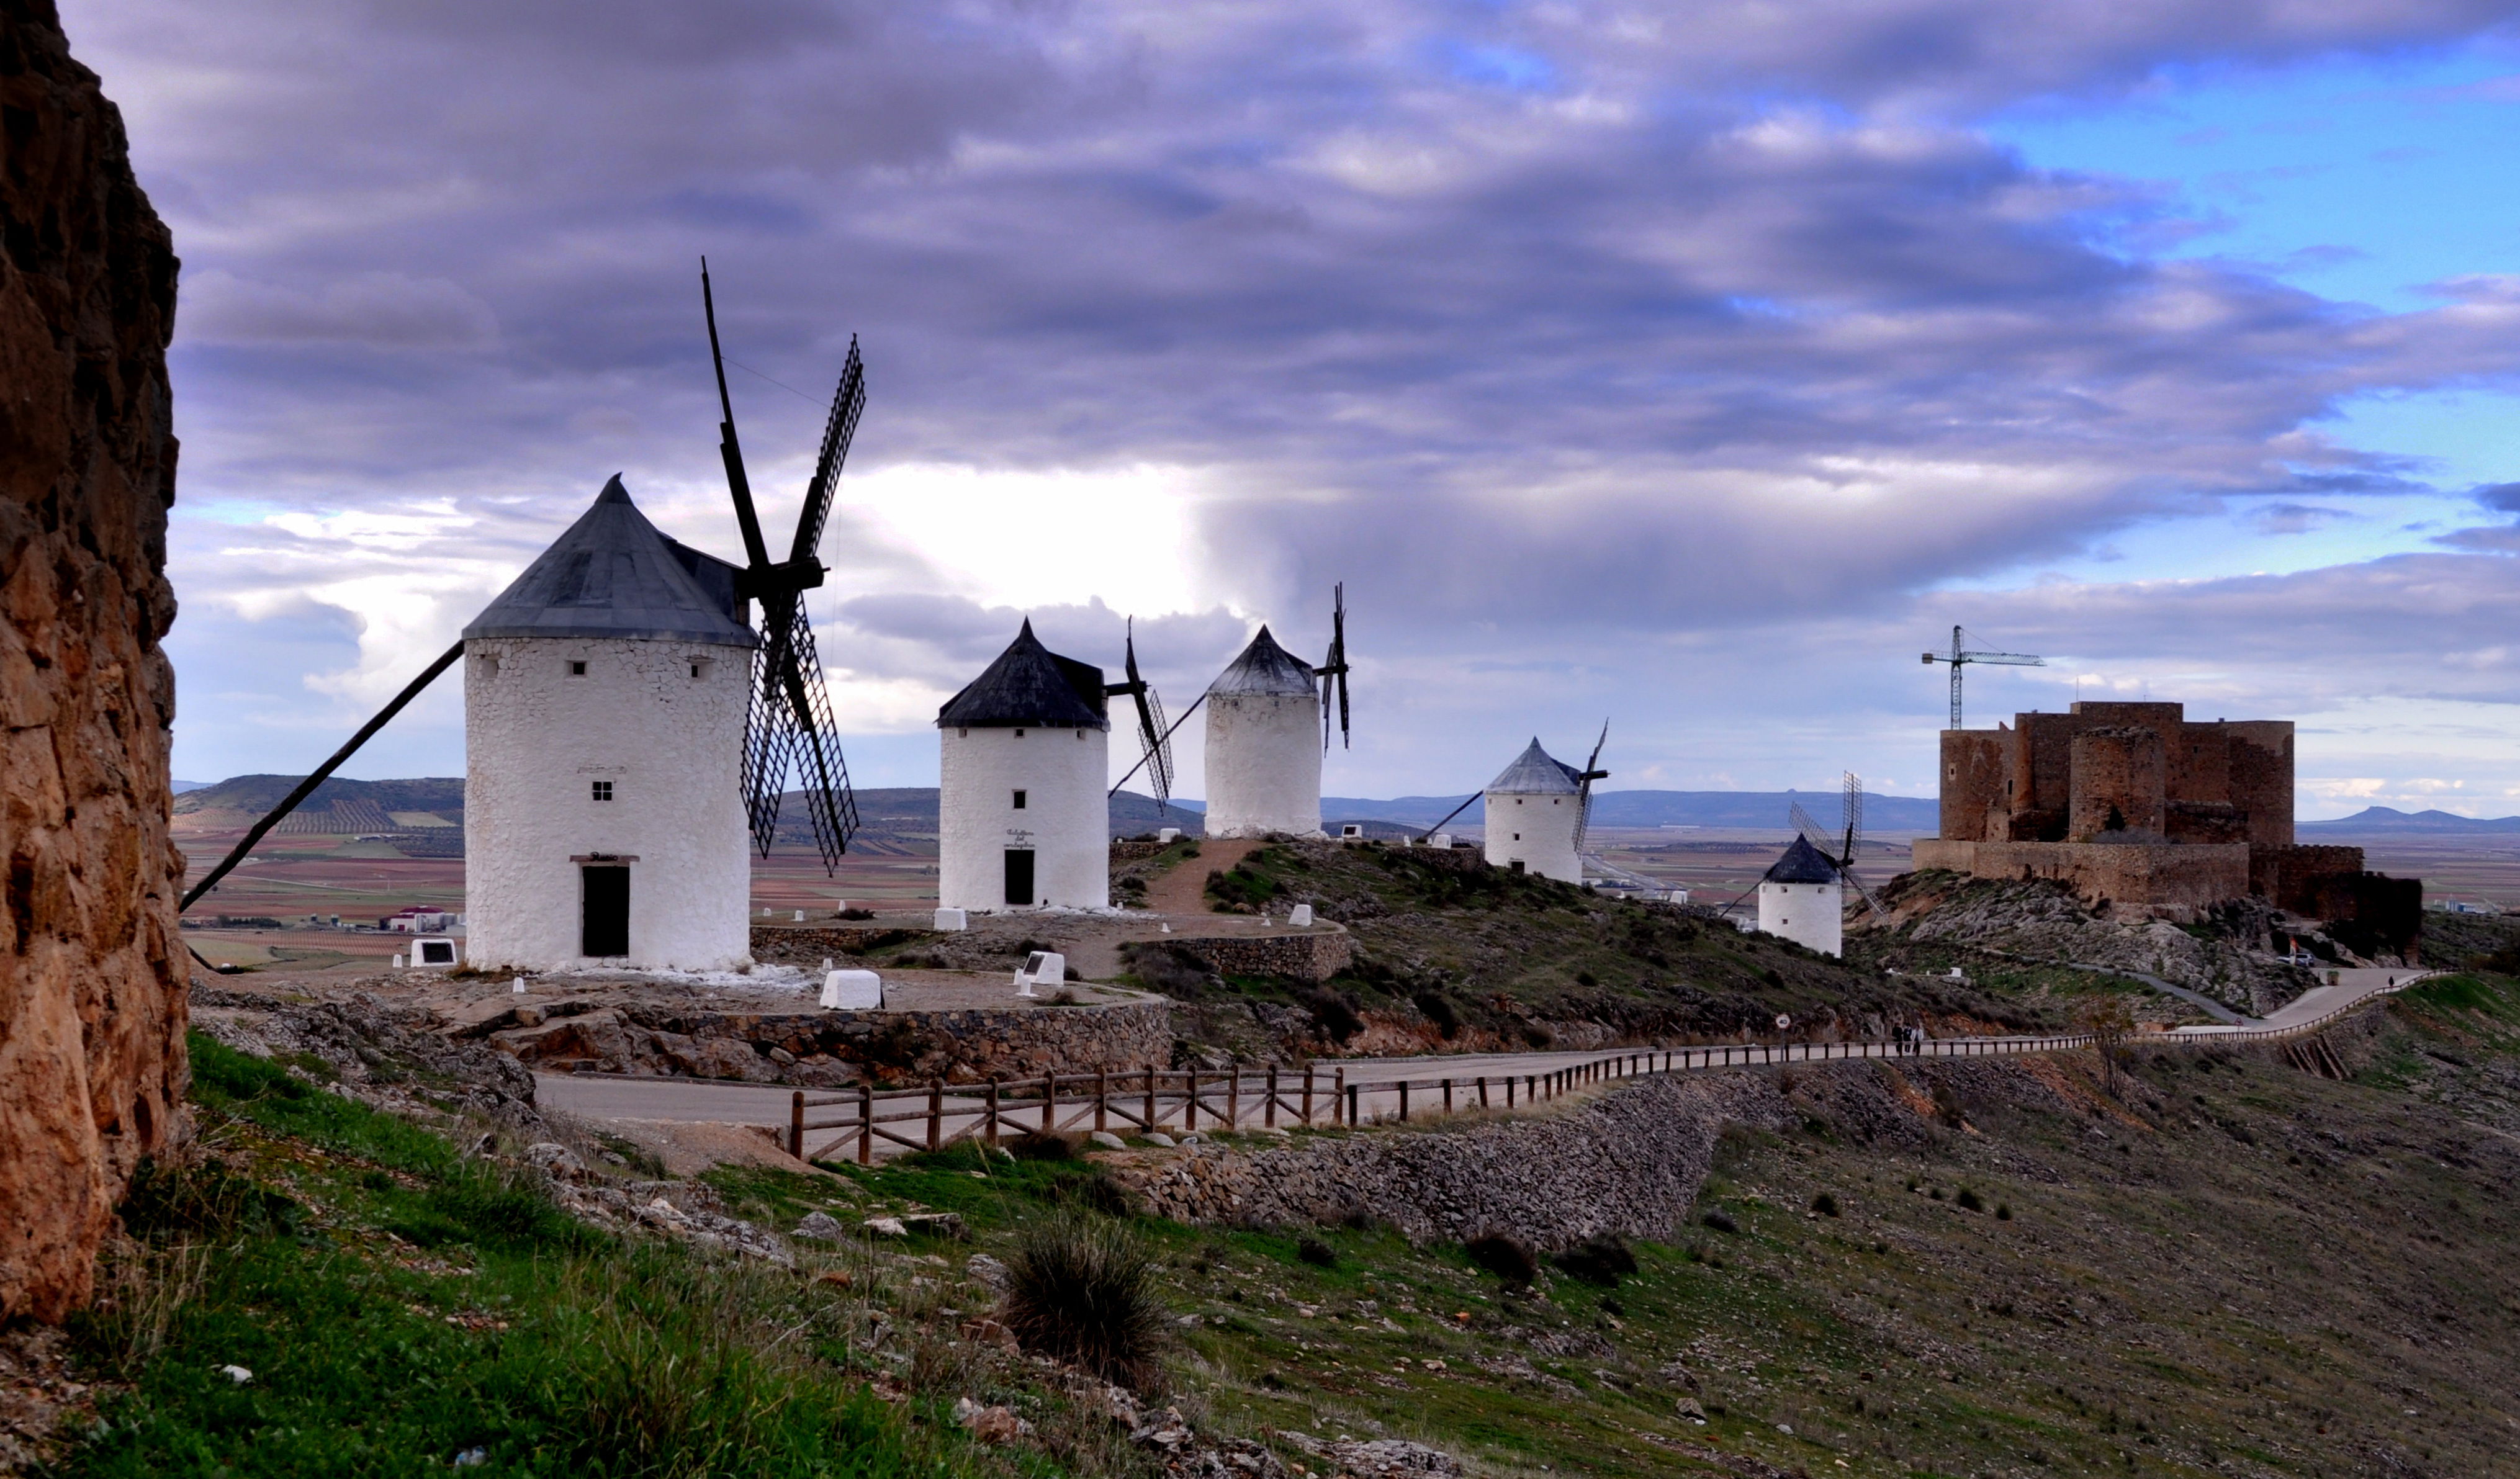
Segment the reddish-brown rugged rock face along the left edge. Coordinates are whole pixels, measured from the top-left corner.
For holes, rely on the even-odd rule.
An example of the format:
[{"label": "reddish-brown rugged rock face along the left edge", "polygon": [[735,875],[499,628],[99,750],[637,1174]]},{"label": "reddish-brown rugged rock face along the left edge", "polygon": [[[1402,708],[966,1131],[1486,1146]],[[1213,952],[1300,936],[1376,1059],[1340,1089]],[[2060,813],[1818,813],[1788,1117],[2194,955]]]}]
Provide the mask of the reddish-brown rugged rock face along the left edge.
[{"label": "reddish-brown rugged rock face along the left edge", "polygon": [[176,260],[50,0],[0,0],[0,1320],[58,1320],[184,1088]]}]

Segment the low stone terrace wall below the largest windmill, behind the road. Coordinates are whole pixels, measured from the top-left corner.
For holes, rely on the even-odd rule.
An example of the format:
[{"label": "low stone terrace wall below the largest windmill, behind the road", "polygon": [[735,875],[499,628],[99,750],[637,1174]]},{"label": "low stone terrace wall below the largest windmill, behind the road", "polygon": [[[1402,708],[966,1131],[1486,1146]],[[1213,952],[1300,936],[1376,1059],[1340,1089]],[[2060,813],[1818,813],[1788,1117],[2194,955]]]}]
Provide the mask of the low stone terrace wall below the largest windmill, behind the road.
[{"label": "low stone terrace wall below the largest windmill, behind the road", "polygon": [[[580,1010],[570,1010],[580,1008]],[[532,1068],[834,1088],[859,1078],[975,1083],[1172,1063],[1172,1003],[902,1013],[519,1008],[474,1028]]]}]

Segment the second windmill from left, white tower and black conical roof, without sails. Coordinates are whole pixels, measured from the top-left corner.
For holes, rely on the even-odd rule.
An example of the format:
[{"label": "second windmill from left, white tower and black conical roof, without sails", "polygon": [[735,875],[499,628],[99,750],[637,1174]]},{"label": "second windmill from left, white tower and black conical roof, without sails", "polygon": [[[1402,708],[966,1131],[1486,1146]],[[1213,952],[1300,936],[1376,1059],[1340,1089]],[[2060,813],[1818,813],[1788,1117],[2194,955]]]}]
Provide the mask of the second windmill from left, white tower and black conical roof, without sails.
[{"label": "second windmill from left, white tower and black conical roof, without sails", "polygon": [[1104,675],[1023,622],[937,711],[937,907],[1111,907]]}]

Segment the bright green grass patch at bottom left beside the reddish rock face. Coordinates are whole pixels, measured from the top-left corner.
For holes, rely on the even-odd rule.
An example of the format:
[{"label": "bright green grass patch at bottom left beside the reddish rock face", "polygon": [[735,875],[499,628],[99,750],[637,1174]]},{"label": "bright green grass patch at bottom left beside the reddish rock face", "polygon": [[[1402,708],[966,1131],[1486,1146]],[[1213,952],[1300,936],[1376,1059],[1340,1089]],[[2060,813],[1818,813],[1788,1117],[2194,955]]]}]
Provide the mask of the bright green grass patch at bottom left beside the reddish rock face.
[{"label": "bright green grass patch at bottom left beside the reddish rock face", "polygon": [[131,1366],[151,1277],[199,1285],[63,1474],[416,1474],[471,1449],[572,1479],[1008,1471],[869,1396],[864,1293],[595,1232],[428,1129],[192,1053],[217,1162],[141,1182],[149,1247],[73,1328],[83,1361]]}]

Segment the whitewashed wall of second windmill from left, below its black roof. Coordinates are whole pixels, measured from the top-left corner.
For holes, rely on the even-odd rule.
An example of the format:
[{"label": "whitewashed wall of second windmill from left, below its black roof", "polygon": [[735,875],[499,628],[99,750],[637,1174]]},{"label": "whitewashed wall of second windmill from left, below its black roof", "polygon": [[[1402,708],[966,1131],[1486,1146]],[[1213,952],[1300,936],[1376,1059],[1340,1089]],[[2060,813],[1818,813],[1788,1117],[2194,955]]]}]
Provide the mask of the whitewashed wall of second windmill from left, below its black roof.
[{"label": "whitewashed wall of second windmill from left, below its black roof", "polygon": [[1036,907],[1111,905],[1109,731],[940,728],[937,746],[940,907],[1008,910],[1011,847],[1033,849]]}]

